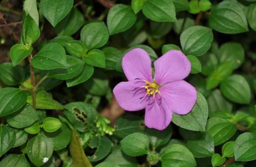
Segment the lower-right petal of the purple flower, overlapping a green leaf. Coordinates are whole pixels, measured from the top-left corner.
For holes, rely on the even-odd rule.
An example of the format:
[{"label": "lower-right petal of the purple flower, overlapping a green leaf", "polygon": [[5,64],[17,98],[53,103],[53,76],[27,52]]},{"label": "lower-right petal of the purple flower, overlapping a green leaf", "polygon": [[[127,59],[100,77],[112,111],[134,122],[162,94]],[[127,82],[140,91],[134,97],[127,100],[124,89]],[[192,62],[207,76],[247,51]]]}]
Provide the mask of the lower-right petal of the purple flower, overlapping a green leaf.
[{"label": "lower-right petal of the purple flower, overlapping a green leaf", "polygon": [[159,88],[162,101],[168,103],[173,113],[185,115],[196,103],[196,89],[184,80],[164,84]]}]

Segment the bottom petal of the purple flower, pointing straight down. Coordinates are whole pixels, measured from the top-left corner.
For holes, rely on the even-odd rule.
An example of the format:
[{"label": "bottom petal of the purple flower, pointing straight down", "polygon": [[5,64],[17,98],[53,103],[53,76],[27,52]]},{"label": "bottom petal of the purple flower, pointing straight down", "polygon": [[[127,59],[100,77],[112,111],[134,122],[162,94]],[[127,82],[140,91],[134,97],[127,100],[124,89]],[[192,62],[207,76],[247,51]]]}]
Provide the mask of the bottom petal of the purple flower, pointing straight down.
[{"label": "bottom petal of the purple flower, pointing straight down", "polygon": [[155,99],[153,104],[146,105],[145,124],[149,128],[162,131],[173,119],[173,112],[166,102],[159,102]]}]

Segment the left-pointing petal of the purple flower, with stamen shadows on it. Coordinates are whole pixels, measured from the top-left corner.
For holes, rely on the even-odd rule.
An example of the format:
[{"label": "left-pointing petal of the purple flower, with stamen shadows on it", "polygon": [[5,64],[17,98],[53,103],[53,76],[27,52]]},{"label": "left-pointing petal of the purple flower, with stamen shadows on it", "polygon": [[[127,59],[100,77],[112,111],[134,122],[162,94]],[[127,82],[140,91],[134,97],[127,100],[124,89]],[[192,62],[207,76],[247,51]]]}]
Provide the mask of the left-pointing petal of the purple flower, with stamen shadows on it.
[{"label": "left-pointing petal of the purple flower, with stamen shadows on it", "polygon": [[121,108],[127,111],[138,111],[144,109],[146,102],[144,100],[146,89],[142,81],[120,82],[113,89],[117,103]]}]

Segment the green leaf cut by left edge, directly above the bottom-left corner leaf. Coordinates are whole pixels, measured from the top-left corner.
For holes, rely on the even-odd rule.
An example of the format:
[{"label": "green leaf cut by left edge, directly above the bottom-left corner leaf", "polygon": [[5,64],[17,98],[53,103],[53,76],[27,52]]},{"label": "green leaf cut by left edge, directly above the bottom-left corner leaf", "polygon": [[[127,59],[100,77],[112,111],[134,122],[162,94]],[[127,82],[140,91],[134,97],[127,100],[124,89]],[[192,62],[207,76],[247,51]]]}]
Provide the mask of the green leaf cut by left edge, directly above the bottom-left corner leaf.
[{"label": "green leaf cut by left edge, directly above the bottom-left corner leaf", "polygon": [[7,125],[0,125],[0,157],[15,143],[15,130]]}]

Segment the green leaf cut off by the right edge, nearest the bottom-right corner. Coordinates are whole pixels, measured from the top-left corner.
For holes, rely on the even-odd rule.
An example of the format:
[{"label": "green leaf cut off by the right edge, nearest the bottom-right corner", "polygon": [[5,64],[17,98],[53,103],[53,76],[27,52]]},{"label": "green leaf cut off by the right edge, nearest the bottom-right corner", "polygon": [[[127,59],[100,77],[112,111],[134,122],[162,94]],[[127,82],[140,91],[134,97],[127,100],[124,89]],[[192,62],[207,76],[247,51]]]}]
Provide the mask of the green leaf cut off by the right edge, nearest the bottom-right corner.
[{"label": "green leaf cut off by the right edge, nearest the bottom-right corner", "polygon": [[240,134],[235,142],[234,155],[236,161],[256,160],[256,136],[245,132]]}]

